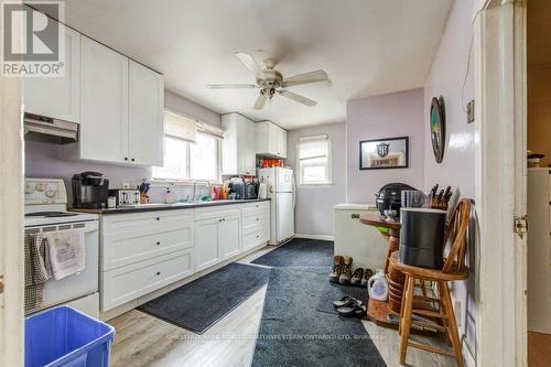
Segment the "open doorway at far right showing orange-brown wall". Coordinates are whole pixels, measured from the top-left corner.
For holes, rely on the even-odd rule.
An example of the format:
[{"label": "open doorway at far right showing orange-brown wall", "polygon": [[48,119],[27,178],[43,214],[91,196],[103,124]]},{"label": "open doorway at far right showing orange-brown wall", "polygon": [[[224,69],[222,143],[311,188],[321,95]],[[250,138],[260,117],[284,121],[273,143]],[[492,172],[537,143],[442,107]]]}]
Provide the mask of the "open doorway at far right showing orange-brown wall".
[{"label": "open doorway at far right showing orange-brown wall", "polygon": [[551,360],[551,2],[527,3],[528,366]]}]

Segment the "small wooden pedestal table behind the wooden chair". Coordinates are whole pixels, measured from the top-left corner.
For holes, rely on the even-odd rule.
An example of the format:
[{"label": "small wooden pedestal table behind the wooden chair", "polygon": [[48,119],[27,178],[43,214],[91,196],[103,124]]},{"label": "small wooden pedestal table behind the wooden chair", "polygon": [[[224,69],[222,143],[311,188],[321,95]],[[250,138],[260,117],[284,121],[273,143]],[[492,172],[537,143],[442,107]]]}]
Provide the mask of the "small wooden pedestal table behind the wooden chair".
[{"label": "small wooden pedestal table behind the wooden chair", "polygon": [[399,314],[402,301],[404,279],[401,272],[398,272],[397,270],[395,271],[393,269],[390,269],[391,274],[389,274],[389,267],[392,267],[390,260],[392,252],[398,251],[398,248],[400,247],[401,224],[399,222],[387,220],[382,218],[378,213],[364,214],[359,217],[359,222],[368,226],[382,227],[389,229],[388,250],[387,250],[387,257],[385,258],[385,274],[387,276],[387,279],[390,278],[390,280],[397,285],[392,287],[391,290],[389,282],[389,298],[392,298],[392,305],[389,309],[388,301],[382,302],[377,300],[369,300],[367,316],[377,325],[397,328],[398,323],[396,322],[396,317],[395,322],[389,321],[389,314],[393,315]]}]

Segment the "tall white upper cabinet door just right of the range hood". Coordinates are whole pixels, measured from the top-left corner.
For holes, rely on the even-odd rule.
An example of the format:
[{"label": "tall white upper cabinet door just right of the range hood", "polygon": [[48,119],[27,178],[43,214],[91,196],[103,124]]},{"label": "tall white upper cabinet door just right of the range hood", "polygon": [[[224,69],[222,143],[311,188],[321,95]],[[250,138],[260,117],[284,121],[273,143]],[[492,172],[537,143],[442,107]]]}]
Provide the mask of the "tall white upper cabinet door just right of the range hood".
[{"label": "tall white upper cabinet door just right of the range hood", "polygon": [[82,36],[80,158],[128,162],[128,58]]}]

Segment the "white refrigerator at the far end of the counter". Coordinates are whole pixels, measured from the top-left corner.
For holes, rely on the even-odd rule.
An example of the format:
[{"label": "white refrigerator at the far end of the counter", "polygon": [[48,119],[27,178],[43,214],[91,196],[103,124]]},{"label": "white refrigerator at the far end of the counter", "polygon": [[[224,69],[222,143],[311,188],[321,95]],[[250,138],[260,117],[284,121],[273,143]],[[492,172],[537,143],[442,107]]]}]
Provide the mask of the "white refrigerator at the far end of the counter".
[{"label": "white refrigerator at the far end of the counter", "polygon": [[267,184],[270,208],[270,245],[279,245],[294,236],[295,186],[293,170],[259,169],[258,179]]}]

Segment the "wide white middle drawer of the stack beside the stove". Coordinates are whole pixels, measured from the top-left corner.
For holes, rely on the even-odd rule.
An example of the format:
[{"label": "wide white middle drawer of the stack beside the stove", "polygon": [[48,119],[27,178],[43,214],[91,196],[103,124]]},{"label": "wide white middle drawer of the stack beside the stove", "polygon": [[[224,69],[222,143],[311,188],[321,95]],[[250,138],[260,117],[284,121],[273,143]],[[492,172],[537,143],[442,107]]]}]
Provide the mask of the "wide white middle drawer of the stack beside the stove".
[{"label": "wide white middle drawer of the stack beside the stove", "polygon": [[194,246],[192,226],[145,236],[118,234],[107,237],[102,246],[102,270],[151,259]]}]

